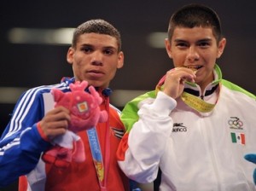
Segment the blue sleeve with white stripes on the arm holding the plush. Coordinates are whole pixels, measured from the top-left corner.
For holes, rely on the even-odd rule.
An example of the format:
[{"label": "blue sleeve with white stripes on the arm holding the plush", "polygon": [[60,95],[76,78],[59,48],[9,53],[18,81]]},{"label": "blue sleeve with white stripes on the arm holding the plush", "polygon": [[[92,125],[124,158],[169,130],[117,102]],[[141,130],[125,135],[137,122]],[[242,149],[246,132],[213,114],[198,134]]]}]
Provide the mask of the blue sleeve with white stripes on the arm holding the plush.
[{"label": "blue sleeve with white stripes on the arm holding the plush", "polygon": [[12,119],[3,131],[0,140],[0,187],[32,171],[41,153],[50,146],[37,129],[38,121],[44,117],[41,93],[32,89],[21,96]]}]

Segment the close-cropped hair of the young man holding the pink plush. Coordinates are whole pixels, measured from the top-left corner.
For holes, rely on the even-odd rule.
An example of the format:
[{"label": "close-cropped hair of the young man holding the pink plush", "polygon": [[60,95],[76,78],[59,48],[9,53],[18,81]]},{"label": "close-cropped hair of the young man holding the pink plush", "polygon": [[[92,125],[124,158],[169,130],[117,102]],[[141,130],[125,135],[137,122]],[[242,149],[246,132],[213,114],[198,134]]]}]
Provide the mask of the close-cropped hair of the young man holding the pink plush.
[{"label": "close-cropped hair of the young man holding the pink plush", "polygon": [[113,25],[108,23],[108,21],[102,19],[88,20],[79,25],[73,32],[72,46],[76,46],[78,38],[81,34],[91,32],[107,34],[113,38],[116,38],[118,43],[118,51],[121,50],[121,36],[119,31]]}]

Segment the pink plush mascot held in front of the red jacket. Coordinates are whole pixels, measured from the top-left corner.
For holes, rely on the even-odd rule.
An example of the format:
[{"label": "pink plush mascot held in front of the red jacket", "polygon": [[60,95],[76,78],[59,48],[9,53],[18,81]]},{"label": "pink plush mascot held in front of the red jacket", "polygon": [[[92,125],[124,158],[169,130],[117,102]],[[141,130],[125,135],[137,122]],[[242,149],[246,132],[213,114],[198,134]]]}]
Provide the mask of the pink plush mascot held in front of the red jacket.
[{"label": "pink plush mascot held in front of the red jacket", "polygon": [[81,130],[89,130],[97,123],[106,122],[108,113],[100,110],[102,97],[93,86],[84,91],[88,86],[87,81],[70,84],[70,92],[63,93],[61,90],[51,91],[55,100],[55,107],[63,106],[70,110],[71,121],[67,132],[62,136],[56,136],[51,142],[50,148],[43,154],[46,163],[52,163],[57,167],[65,168],[70,162],[83,162],[85,160],[84,143],[77,133]]}]

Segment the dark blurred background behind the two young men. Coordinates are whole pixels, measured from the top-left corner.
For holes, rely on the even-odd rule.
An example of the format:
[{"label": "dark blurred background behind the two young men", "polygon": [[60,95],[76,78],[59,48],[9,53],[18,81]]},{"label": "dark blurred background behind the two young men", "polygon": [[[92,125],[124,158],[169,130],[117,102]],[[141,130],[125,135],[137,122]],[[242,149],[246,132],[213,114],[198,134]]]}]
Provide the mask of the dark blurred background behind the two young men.
[{"label": "dark blurred background behind the two young men", "polygon": [[[126,93],[137,92],[134,90],[154,89],[159,78],[172,67],[166,50],[152,47],[148,37],[151,32],[166,32],[171,14],[185,3],[204,3],[218,12],[227,38],[227,46],[218,65],[224,78],[255,94],[254,0],[3,0],[0,7],[0,135],[23,90],[55,84],[63,76],[73,76],[66,61],[67,44],[11,43],[9,32],[13,28],[74,28],[85,20],[108,20],[119,29],[125,52],[125,67],[119,70],[111,88],[117,92],[125,90],[125,95],[129,95]],[[164,44],[164,38],[160,43]],[[136,93],[127,96],[126,100],[133,96],[137,96]],[[114,98],[119,100],[123,96],[119,94]],[[122,103],[117,105],[123,107]],[[17,190],[16,184],[2,190]]]}]

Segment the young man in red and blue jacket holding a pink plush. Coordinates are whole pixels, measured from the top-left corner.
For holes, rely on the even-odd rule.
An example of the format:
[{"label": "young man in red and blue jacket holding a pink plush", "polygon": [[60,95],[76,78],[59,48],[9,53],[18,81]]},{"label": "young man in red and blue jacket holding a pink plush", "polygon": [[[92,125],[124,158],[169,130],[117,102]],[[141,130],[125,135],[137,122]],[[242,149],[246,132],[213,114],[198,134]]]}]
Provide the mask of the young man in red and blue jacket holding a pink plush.
[{"label": "young man in red and blue jacket holding a pink plush", "polygon": [[[109,103],[108,89],[115,72],[124,64],[118,30],[105,20],[84,22],[73,33],[67,62],[73,67],[73,78],[62,78],[60,84],[36,87],[20,96],[0,139],[0,187],[20,177],[20,191],[129,190],[115,154],[125,128],[119,110]],[[81,163],[72,161],[61,169],[42,159],[70,122],[67,108],[54,107],[50,91],[55,88],[69,92],[69,84],[83,80],[102,97],[100,107],[108,112],[108,120],[96,124],[93,136],[86,130],[79,132],[86,159]],[[89,142],[96,145],[90,147]]]}]

